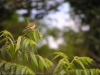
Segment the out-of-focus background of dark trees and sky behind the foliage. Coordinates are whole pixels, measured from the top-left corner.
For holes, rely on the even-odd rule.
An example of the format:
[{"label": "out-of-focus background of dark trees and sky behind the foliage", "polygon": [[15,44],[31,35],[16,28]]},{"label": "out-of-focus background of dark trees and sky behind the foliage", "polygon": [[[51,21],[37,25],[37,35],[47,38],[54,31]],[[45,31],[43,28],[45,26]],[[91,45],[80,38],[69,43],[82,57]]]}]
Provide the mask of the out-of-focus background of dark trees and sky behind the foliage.
[{"label": "out-of-focus background of dark trees and sky behind the foliage", "polygon": [[99,0],[0,0],[0,31],[8,30],[17,39],[28,24],[26,18],[37,23],[43,34],[40,55],[55,65],[55,51],[70,59],[89,56],[96,61],[93,66],[100,68]]}]

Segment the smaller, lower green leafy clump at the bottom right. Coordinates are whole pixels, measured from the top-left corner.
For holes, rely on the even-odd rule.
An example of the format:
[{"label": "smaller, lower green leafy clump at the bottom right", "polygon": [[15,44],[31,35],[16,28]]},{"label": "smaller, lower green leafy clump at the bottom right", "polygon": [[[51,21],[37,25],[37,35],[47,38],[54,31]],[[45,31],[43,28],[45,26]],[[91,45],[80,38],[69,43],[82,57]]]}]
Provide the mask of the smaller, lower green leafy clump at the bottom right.
[{"label": "smaller, lower green leafy clump at the bottom right", "polygon": [[[56,52],[54,53],[57,57],[62,57],[56,66],[53,75],[99,75],[99,69],[88,69],[86,66],[92,64],[93,60],[89,57],[78,57],[75,56],[72,61],[69,61],[68,56],[64,53]],[[76,64],[80,65],[78,68]]]}]

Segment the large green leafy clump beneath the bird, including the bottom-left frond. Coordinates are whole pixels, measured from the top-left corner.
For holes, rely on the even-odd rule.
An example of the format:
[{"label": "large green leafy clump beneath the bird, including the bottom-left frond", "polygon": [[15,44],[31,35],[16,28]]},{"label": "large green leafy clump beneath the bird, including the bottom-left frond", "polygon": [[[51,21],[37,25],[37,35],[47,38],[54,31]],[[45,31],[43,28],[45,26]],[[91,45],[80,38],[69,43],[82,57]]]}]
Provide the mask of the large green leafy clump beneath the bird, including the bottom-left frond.
[{"label": "large green leafy clump beneath the bird, including the bottom-left frond", "polygon": [[4,42],[4,46],[0,48],[0,71],[3,72],[3,75],[5,73],[36,75],[31,69],[36,71],[39,68],[43,71],[44,68],[49,69],[53,65],[49,59],[38,54],[36,47],[38,41],[42,39],[39,29],[26,31],[17,40],[14,40],[13,35],[6,30],[0,33],[2,39],[0,43]]}]

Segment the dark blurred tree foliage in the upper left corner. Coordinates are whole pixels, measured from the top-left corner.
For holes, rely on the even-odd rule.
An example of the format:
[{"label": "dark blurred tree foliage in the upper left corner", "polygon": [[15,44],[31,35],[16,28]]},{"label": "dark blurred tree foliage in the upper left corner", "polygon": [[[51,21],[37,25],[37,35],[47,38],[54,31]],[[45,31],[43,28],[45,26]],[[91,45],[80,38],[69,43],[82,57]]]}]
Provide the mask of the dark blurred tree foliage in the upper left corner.
[{"label": "dark blurred tree foliage in the upper left corner", "polygon": [[[27,13],[22,14],[23,17],[30,17],[32,9],[37,11],[43,11],[34,14],[35,19],[43,18],[51,10],[56,10],[56,7],[59,6],[61,2],[53,1],[53,4],[49,3],[47,0],[2,0],[0,1],[0,28],[4,27],[3,22],[7,20],[12,20],[13,14],[16,10],[26,9]],[[2,30],[2,29],[1,29]]]}]

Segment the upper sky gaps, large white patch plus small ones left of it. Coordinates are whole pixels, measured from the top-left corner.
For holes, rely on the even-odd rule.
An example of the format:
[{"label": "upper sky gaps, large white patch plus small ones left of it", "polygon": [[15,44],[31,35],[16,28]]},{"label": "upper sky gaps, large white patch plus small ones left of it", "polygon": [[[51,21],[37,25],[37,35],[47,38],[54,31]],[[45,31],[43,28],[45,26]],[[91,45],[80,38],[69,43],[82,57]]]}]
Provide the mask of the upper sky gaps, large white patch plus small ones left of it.
[{"label": "upper sky gaps, large white patch plus small ones left of it", "polygon": [[[50,3],[53,3],[53,2],[50,2]],[[77,17],[76,17],[77,19],[74,19],[74,20],[71,18],[70,4],[68,2],[62,3],[60,6],[58,6],[57,10],[58,11],[54,11],[54,10],[50,11],[49,14],[42,19],[45,22],[45,24],[47,25],[51,24],[49,28],[57,27],[59,29],[63,29],[64,27],[69,27],[75,32],[78,32],[78,26],[81,21]],[[44,12],[44,10],[37,11],[36,9],[33,9],[31,11],[31,18],[34,19],[35,17],[34,15],[39,12]],[[17,10],[17,13],[22,15],[23,13],[27,13],[27,10],[25,9]],[[23,21],[23,20],[25,20],[25,18],[23,16],[20,16],[19,21]],[[75,21],[76,23],[78,23],[77,26],[75,26]]]}]

